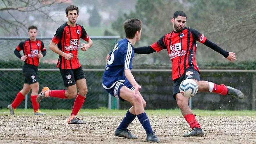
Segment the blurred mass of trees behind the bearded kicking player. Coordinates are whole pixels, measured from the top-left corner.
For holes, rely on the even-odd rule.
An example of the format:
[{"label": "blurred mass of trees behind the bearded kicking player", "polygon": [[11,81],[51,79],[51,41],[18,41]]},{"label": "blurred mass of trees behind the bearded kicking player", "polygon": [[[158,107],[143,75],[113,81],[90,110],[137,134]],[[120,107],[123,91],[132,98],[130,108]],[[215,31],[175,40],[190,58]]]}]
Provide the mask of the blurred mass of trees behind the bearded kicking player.
[{"label": "blurred mass of trees behind the bearded kicking player", "polygon": [[[122,23],[129,18],[139,18],[143,21],[143,46],[150,45],[173,30],[170,19],[177,10],[186,12],[186,27],[193,27],[223,49],[234,51],[239,60],[255,58],[256,54],[251,51],[256,45],[256,0],[138,0],[135,12],[118,17],[112,27],[124,37]],[[224,60],[223,56],[200,42],[198,49],[200,62]],[[136,60],[139,63],[170,63],[165,51],[150,57],[136,55]]]}]

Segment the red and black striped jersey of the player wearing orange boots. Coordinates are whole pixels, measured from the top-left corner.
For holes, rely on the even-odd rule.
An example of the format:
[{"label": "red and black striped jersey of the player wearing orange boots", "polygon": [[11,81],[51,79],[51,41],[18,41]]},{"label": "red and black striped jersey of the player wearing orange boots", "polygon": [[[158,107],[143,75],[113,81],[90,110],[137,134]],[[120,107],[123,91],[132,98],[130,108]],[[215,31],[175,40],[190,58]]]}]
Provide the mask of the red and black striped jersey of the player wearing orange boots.
[{"label": "red and black striped jersey of the player wearing orange boots", "polygon": [[56,34],[51,41],[56,43],[61,51],[72,53],[74,55],[74,58],[71,60],[66,60],[63,56],[59,56],[57,67],[61,69],[76,69],[81,67],[77,58],[80,38],[88,41],[90,37],[83,26],[79,24],[72,27],[66,22],[57,29]]}]

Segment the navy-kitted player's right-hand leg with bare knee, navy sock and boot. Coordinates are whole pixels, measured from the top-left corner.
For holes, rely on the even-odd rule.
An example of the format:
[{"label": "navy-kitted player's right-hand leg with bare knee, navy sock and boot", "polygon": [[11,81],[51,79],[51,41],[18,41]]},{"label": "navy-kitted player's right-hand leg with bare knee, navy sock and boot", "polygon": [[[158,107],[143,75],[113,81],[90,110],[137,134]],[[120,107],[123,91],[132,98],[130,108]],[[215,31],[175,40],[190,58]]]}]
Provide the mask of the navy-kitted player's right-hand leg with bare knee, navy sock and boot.
[{"label": "navy-kitted player's right-hand leg with bare knee, navy sock and boot", "polygon": [[134,108],[135,115],[137,115],[138,120],[146,131],[147,138],[146,141],[158,142],[159,138],[152,131],[149,118],[145,113],[142,97],[140,95],[134,95],[133,91],[126,86],[120,88],[120,97],[128,102],[130,102]]}]

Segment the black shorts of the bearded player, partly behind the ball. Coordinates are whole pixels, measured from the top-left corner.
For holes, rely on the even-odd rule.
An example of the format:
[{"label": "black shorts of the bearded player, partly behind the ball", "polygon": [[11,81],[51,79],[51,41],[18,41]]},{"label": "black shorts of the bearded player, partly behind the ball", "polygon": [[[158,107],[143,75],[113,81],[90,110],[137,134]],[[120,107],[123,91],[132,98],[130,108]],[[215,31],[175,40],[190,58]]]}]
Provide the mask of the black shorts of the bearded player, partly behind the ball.
[{"label": "black shorts of the bearded player, partly behind the ball", "polygon": [[195,79],[200,81],[200,75],[197,70],[189,67],[185,70],[184,74],[173,81],[173,98],[176,100],[176,94],[179,93],[179,85],[185,79]]}]

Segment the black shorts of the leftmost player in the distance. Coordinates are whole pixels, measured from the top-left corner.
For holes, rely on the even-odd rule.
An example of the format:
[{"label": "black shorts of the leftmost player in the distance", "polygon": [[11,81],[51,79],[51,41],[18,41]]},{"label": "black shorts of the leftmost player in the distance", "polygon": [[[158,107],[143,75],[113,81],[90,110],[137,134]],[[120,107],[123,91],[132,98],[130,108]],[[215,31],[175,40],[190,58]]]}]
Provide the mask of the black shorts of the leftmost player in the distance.
[{"label": "black shorts of the leftmost player in the distance", "polygon": [[25,76],[24,83],[33,84],[38,82],[37,72],[38,67],[30,64],[24,64],[22,67],[23,75]]}]

